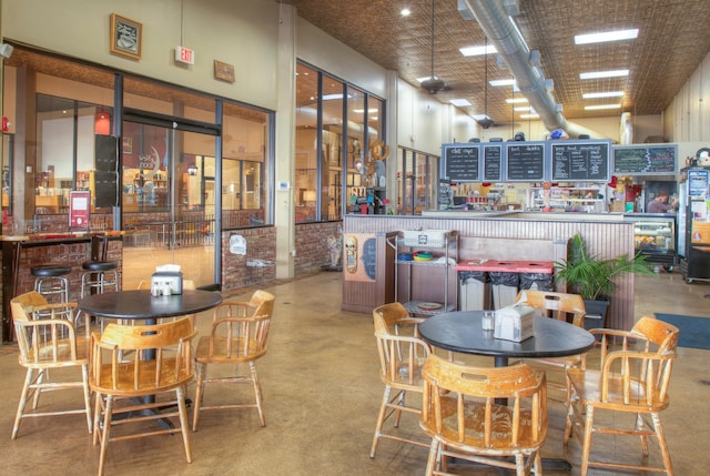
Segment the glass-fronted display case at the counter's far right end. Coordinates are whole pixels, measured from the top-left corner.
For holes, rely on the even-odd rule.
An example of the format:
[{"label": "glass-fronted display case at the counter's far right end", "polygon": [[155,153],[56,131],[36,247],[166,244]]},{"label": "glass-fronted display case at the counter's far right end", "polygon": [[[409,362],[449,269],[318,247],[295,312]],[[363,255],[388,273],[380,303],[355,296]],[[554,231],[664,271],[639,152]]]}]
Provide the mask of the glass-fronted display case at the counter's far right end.
[{"label": "glass-fronted display case at the counter's far right end", "polygon": [[646,256],[647,262],[673,271],[677,263],[676,215],[629,213],[625,216],[633,221],[636,251]]}]

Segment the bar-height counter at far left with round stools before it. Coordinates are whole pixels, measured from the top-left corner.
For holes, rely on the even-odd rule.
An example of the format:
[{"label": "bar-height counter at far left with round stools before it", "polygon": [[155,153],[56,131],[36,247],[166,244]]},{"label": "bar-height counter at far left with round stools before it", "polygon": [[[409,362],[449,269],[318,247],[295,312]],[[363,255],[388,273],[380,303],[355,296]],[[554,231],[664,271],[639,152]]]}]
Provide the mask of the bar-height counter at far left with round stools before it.
[{"label": "bar-height counter at far left with round stools before it", "polygon": [[85,261],[116,261],[121,270],[123,246],[121,232],[36,233],[0,235],[2,242],[2,340],[12,336],[10,300],[31,291],[34,276],[30,269],[45,264],[71,267],[70,301],[81,291],[81,265]]}]

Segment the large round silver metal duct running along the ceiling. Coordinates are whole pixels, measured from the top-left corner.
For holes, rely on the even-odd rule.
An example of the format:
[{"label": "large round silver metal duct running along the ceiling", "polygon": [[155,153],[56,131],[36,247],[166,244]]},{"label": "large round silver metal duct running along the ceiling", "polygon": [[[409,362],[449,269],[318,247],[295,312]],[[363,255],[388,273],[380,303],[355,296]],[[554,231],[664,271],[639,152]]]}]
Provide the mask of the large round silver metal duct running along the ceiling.
[{"label": "large round silver metal duct running along the ceiling", "polygon": [[[465,12],[468,7],[478,21],[488,40],[496,47],[508,70],[513,73],[520,92],[540,115],[548,130],[564,129],[571,138],[589,134],[589,130],[568,123],[561,112],[561,105],[546,88],[542,71],[530,63],[530,49],[525,42],[515,22],[507,13],[500,0],[459,0],[462,17],[470,17]],[[597,134],[595,134],[597,135]]]}]

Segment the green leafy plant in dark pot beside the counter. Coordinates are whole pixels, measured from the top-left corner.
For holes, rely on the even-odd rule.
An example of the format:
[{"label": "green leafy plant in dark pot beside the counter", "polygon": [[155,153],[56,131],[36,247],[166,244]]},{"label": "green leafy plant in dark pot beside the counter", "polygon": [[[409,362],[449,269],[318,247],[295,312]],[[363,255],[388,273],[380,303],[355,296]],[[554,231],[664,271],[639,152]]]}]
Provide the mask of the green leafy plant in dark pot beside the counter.
[{"label": "green leafy plant in dark pot beside the counter", "polygon": [[622,254],[610,259],[590,254],[580,234],[570,240],[567,256],[567,260],[555,263],[555,282],[564,282],[569,292],[581,295],[588,316],[601,318],[601,323],[586,321],[586,327],[587,324],[591,324],[591,327],[605,326],[609,297],[617,288],[617,276],[623,273],[655,275],[641,254],[633,257]]}]

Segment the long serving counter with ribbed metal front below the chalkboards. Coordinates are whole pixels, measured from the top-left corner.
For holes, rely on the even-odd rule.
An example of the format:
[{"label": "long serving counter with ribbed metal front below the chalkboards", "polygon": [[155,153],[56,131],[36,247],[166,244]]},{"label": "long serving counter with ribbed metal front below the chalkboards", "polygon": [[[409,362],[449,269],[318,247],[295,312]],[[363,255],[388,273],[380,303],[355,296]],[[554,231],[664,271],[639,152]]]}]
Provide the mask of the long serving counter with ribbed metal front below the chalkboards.
[{"label": "long serving counter with ribbed metal front below the chalkboards", "polygon": [[[546,261],[567,259],[567,243],[579,233],[590,253],[601,257],[633,255],[633,223],[622,213],[476,212],[427,211],[423,215],[345,215],[343,235],[397,233],[405,230],[452,230],[458,235],[458,262],[473,260]],[[383,259],[382,266],[393,263]],[[618,278],[611,296],[607,325],[629,330],[633,325],[633,275]],[[382,282],[381,282],[382,283]],[[344,280],[343,308],[355,311],[376,306],[367,300],[374,280],[358,282],[357,292]],[[367,285],[366,285],[367,284]],[[388,286],[388,283],[379,284]],[[422,283],[427,286],[427,283]],[[428,284],[434,286],[434,283]],[[558,285],[556,291],[566,291]],[[367,311],[363,311],[367,312]]]}]

